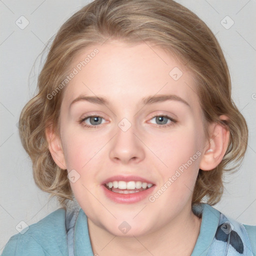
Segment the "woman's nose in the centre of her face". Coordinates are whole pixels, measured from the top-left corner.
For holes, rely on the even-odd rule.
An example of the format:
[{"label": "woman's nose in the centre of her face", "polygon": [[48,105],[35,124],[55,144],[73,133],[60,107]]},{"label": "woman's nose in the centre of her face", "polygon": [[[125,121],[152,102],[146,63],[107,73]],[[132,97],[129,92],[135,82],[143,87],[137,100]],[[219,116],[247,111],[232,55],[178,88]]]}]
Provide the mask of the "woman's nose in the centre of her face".
[{"label": "woman's nose in the centre of her face", "polygon": [[116,134],[111,139],[109,157],[112,161],[127,164],[138,163],[145,157],[144,144],[139,133],[131,125],[126,131],[118,126]]}]

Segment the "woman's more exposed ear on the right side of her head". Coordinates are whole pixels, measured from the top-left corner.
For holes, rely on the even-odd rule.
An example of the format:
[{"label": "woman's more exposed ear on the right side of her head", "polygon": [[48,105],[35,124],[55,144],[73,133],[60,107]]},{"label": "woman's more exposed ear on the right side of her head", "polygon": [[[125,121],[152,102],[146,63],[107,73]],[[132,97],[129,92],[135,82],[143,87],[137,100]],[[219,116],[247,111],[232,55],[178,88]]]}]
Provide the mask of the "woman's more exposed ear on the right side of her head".
[{"label": "woman's more exposed ear on the right side of her head", "polygon": [[[228,117],[220,115],[219,119],[228,120]],[[210,125],[210,138],[199,164],[199,168],[202,170],[212,170],[221,162],[229,141],[227,127],[217,122]]]}]

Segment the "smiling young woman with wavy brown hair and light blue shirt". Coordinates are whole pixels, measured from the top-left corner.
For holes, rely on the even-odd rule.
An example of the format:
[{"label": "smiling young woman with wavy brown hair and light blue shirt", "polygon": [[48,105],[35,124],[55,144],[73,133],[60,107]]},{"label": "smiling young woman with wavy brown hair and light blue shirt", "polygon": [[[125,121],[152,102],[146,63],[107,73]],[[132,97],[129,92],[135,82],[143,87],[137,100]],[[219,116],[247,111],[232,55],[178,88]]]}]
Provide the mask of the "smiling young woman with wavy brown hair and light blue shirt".
[{"label": "smiling young woman with wavy brown hair and light blue shirt", "polygon": [[3,256],[255,255],[256,227],[211,206],[247,125],[194,13],[172,0],[95,0],[59,29],[38,90],[20,136],[36,184],[63,208]]}]

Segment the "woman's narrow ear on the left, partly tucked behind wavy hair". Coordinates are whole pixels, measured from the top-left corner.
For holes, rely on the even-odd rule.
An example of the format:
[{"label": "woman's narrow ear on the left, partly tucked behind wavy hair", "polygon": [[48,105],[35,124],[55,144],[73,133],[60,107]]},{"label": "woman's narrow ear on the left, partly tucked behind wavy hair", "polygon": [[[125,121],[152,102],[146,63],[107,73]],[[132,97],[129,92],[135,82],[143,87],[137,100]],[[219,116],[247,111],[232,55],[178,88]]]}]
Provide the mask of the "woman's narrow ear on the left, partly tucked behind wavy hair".
[{"label": "woman's narrow ear on the left, partly tucked behind wavy hair", "polygon": [[54,132],[52,125],[45,129],[45,136],[48,142],[48,148],[54,162],[61,169],[66,169],[64,153],[59,136]]}]

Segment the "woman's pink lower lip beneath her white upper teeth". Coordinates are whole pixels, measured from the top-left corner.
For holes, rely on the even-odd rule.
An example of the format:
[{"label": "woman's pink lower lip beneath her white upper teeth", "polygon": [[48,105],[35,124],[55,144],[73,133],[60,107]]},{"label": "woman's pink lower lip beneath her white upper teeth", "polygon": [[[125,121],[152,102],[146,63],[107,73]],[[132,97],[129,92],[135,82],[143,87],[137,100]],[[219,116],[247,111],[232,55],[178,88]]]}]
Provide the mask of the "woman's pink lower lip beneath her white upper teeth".
[{"label": "woman's pink lower lip beneath her white upper teeth", "polygon": [[113,192],[107,189],[104,185],[102,185],[102,188],[106,197],[108,197],[109,199],[117,203],[134,203],[134,202],[141,201],[146,197],[148,197],[150,193],[152,193],[153,187],[154,185],[139,192],[123,194],[123,193]]}]

